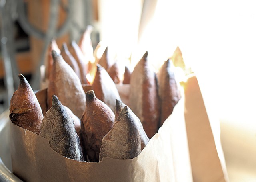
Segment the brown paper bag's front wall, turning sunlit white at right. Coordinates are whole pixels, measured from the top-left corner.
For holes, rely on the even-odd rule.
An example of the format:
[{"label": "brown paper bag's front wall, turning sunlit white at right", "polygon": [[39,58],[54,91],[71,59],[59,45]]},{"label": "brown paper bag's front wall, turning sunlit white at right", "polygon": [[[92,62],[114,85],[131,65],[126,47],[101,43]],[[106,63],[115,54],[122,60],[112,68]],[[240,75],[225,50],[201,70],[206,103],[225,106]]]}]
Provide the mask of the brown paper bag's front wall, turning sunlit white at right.
[{"label": "brown paper bag's front wall, turning sunlit white at right", "polygon": [[[127,87],[119,87],[120,95]],[[46,90],[36,95],[45,113]],[[27,182],[192,182],[185,121],[179,119],[184,116],[184,100],[173,113],[138,157],[104,158],[100,163],[63,157],[48,140],[10,123],[13,173]]]}]

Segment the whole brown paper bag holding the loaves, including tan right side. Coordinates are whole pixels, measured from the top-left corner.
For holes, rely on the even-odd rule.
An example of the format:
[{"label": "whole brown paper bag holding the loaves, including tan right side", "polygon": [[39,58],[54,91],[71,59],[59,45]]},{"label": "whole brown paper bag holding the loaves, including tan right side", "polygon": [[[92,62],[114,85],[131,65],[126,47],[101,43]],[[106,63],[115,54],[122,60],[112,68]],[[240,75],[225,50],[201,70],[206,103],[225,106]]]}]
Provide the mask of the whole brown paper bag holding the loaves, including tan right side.
[{"label": "whole brown paper bag holding the loaves, including tan right side", "polygon": [[[117,88],[128,102],[129,86]],[[53,151],[48,140],[11,123],[13,172],[33,182],[227,182],[221,145],[214,140],[195,76],[184,83],[184,94],[142,153],[129,160],[104,158],[89,163],[68,159]],[[45,113],[46,90],[36,95]]]}]

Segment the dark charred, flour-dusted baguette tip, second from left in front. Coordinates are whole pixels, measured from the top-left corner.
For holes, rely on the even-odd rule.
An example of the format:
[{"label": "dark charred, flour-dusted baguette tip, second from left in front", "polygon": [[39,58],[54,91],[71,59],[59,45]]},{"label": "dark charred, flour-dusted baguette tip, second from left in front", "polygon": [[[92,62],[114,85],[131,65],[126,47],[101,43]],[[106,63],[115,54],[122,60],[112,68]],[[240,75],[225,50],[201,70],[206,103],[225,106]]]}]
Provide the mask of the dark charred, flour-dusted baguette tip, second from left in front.
[{"label": "dark charred, flour-dusted baguette tip, second from left in front", "polygon": [[56,96],[41,125],[41,136],[48,139],[52,149],[70,159],[83,161],[79,137],[73,119]]}]

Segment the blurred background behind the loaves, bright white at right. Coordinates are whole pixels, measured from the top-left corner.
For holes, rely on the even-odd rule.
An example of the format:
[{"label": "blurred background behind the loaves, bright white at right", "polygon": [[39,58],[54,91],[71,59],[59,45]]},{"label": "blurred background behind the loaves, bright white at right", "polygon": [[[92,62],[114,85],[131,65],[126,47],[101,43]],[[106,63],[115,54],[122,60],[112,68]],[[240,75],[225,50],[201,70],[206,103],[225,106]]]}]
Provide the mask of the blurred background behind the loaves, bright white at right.
[{"label": "blurred background behind the loaves, bright white at right", "polygon": [[156,69],[179,47],[198,76],[206,107],[220,121],[231,182],[256,182],[256,11],[253,0],[0,0],[0,112],[19,73],[40,89],[50,40],[79,41],[92,25],[131,67],[145,51]]}]

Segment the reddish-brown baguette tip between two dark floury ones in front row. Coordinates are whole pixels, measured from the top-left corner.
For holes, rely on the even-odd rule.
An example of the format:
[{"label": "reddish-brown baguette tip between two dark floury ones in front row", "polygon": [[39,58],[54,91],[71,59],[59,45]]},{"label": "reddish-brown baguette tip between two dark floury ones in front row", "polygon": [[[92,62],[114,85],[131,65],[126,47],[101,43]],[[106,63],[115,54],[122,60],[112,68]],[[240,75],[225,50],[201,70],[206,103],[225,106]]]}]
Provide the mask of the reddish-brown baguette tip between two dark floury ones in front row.
[{"label": "reddish-brown baguette tip between two dark floury ones in front row", "polygon": [[82,145],[85,146],[90,162],[99,161],[102,138],[114,125],[114,113],[94,91],[86,92],[86,108],[81,118]]}]

